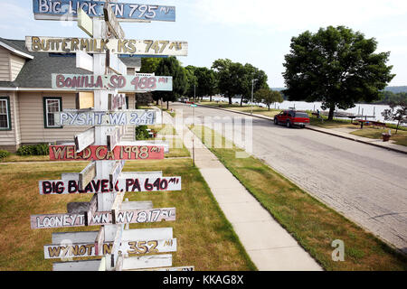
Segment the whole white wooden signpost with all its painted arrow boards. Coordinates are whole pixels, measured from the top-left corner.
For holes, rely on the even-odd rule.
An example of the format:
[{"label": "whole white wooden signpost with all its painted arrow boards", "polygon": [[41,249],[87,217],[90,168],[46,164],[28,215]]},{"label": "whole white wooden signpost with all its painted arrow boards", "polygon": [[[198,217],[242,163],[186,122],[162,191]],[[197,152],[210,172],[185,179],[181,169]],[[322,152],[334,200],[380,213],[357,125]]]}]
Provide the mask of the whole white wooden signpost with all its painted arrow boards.
[{"label": "whole white wooden signpost with all its painted arrow boards", "polygon": [[[57,126],[92,126],[76,134],[74,144],[50,145],[50,160],[90,161],[81,172],[61,180],[40,181],[41,195],[93,193],[89,202],[70,202],[67,212],[32,215],[31,228],[99,226],[96,231],[52,234],[45,259],[61,259],[54,271],[164,270],[172,266],[177,239],[172,228],[128,229],[128,224],[175,221],[175,208],[154,208],[151,200],[123,201],[126,192],[181,191],[181,177],[162,172],[122,172],[125,160],[163,159],[168,144],[123,142],[126,126],[155,125],[155,110],[128,110],[125,92],[171,91],[172,78],[154,74],[128,76],[118,54],[186,55],[187,42],[125,40],[120,21],[175,21],[175,7],[86,0],[33,0],[35,19],[66,20],[71,14],[91,38],[27,36],[29,51],[76,52],[76,66],[93,74],[52,74],[52,88],[78,92],[76,109],[54,114]],[[93,54],[92,56],[88,53]],[[113,72],[113,74],[111,73]],[[108,73],[108,74],[107,74]],[[126,226],[125,226],[126,225]],[[78,257],[99,259],[73,261]],[[69,262],[67,262],[69,261]]]}]

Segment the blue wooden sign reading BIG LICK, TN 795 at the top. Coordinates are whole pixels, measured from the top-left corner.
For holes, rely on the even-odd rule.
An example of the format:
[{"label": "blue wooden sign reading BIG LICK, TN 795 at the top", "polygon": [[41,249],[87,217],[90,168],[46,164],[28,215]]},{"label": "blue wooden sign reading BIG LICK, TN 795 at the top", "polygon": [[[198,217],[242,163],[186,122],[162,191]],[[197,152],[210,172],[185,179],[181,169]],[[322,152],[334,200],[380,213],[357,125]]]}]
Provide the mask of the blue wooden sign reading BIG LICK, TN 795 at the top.
[{"label": "blue wooden sign reading BIG LICK, TN 795 at the top", "polygon": [[[90,17],[102,17],[104,2],[86,0],[33,0],[35,19],[75,20],[78,8]],[[110,3],[118,21],[175,21],[175,6]]]}]

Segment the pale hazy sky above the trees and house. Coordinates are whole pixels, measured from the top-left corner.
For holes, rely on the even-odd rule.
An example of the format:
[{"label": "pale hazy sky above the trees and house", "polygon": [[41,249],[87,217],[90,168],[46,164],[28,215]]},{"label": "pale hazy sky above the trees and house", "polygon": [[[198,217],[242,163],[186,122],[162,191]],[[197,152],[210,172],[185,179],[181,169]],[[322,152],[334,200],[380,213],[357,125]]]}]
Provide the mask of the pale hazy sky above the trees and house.
[{"label": "pale hazy sky above the trees and house", "polygon": [[[127,39],[188,42],[184,66],[211,68],[217,59],[251,63],[268,75],[271,88],[284,87],[284,55],[292,37],[320,27],[344,25],[390,51],[396,74],[390,86],[407,85],[407,1],[405,0],[119,0],[171,5],[175,22],[122,23]],[[33,18],[33,0],[0,0],[0,37],[89,37],[75,22]]]}]

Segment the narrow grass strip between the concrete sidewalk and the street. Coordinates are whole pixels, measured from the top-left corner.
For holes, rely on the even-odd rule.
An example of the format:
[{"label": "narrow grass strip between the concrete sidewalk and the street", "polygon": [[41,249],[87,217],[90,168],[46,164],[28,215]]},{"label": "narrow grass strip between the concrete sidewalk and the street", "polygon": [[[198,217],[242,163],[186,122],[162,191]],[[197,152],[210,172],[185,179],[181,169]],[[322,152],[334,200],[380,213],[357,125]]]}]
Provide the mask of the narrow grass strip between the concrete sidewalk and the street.
[{"label": "narrow grass strip between the concrete sidewalk and the street", "polygon": [[[203,142],[221,137],[222,144],[226,143],[224,137],[215,136],[217,133],[208,127],[194,126],[192,130]],[[234,145],[232,149],[207,146],[326,270],[407,270],[406,256],[328,208],[259,159],[236,158],[236,153],[243,151]],[[336,239],[345,244],[345,261],[332,259],[335,249],[332,242]]]}]

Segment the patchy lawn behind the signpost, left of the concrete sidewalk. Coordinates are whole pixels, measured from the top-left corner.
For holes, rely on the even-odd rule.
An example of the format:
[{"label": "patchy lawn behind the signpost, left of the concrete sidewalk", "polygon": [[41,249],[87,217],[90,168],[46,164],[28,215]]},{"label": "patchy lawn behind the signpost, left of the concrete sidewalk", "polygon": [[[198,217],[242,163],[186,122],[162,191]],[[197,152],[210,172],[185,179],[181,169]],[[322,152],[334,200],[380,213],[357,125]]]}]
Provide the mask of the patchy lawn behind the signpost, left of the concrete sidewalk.
[{"label": "patchy lawn behind the signpost, left of the concrete sidewalk", "polygon": [[[0,271],[48,271],[43,246],[52,232],[99,230],[99,227],[31,229],[30,215],[66,211],[71,201],[89,201],[92,194],[40,195],[38,181],[58,180],[62,172],[80,172],[88,162],[0,164]],[[130,228],[174,228],[177,251],[173,266],[199,271],[256,270],[232,225],[225,219],[204,178],[190,160],[127,161],[126,172],[163,171],[181,176],[182,191],[131,192],[129,200],[152,200],[155,208],[176,208],[171,222],[131,224]]]}]

